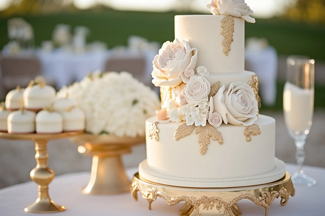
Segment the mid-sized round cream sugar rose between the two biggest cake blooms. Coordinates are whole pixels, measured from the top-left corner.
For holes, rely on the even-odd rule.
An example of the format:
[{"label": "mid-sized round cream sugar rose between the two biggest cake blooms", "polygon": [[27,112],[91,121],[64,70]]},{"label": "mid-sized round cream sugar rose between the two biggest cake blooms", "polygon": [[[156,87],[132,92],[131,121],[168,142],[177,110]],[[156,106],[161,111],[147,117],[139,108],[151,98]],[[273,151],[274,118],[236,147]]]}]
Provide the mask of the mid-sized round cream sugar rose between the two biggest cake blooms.
[{"label": "mid-sized round cream sugar rose between the two biggest cake blooms", "polygon": [[211,85],[203,76],[192,76],[186,85],[185,96],[192,106],[198,104],[202,99],[208,99]]}]

